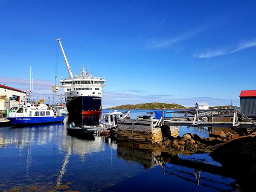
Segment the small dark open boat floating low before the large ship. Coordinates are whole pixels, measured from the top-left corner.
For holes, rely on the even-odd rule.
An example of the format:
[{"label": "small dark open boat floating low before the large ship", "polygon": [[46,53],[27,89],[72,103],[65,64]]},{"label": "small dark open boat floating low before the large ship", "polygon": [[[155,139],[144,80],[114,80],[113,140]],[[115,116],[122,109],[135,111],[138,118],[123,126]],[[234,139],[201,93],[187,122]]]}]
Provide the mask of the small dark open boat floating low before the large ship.
[{"label": "small dark open boat floating low before the large ship", "polygon": [[76,127],[75,123],[70,123],[69,127],[67,127],[67,133],[76,136],[76,137],[84,137],[84,138],[94,138],[95,129],[90,127]]}]

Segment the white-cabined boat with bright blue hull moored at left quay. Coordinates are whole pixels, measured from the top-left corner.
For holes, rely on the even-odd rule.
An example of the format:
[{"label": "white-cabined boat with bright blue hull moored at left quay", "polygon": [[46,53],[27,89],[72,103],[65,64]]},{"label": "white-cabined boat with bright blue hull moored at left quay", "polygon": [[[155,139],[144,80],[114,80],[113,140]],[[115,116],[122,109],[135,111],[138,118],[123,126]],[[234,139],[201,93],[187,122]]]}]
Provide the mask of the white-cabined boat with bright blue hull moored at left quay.
[{"label": "white-cabined boat with bright blue hull moored at left quay", "polygon": [[13,125],[55,123],[64,120],[61,112],[53,111],[45,104],[34,105],[31,103],[15,105],[6,118]]}]

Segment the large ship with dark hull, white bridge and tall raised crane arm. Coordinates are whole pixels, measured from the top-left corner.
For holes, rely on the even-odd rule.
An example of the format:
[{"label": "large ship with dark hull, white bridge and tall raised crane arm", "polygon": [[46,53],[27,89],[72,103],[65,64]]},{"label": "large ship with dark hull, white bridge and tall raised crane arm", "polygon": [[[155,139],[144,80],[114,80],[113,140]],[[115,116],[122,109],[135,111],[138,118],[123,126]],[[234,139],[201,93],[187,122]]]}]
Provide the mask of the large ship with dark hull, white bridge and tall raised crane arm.
[{"label": "large ship with dark hull, white bridge and tall raised crane arm", "polygon": [[61,46],[69,78],[61,79],[64,88],[67,111],[69,114],[97,115],[102,113],[102,87],[105,87],[105,78],[93,77],[83,67],[81,72],[73,76],[67,61],[61,39],[57,39]]}]

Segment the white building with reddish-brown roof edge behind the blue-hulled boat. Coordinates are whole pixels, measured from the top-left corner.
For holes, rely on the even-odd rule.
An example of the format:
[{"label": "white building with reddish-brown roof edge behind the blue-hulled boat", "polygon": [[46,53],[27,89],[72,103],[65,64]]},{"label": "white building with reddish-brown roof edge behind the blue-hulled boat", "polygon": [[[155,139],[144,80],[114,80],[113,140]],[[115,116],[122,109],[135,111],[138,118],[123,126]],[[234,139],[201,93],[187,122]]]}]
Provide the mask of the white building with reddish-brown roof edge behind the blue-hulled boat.
[{"label": "white building with reddish-brown roof edge behind the blue-hulled boat", "polygon": [[0,84],[0,111],[24,102],[26,92]]}]

